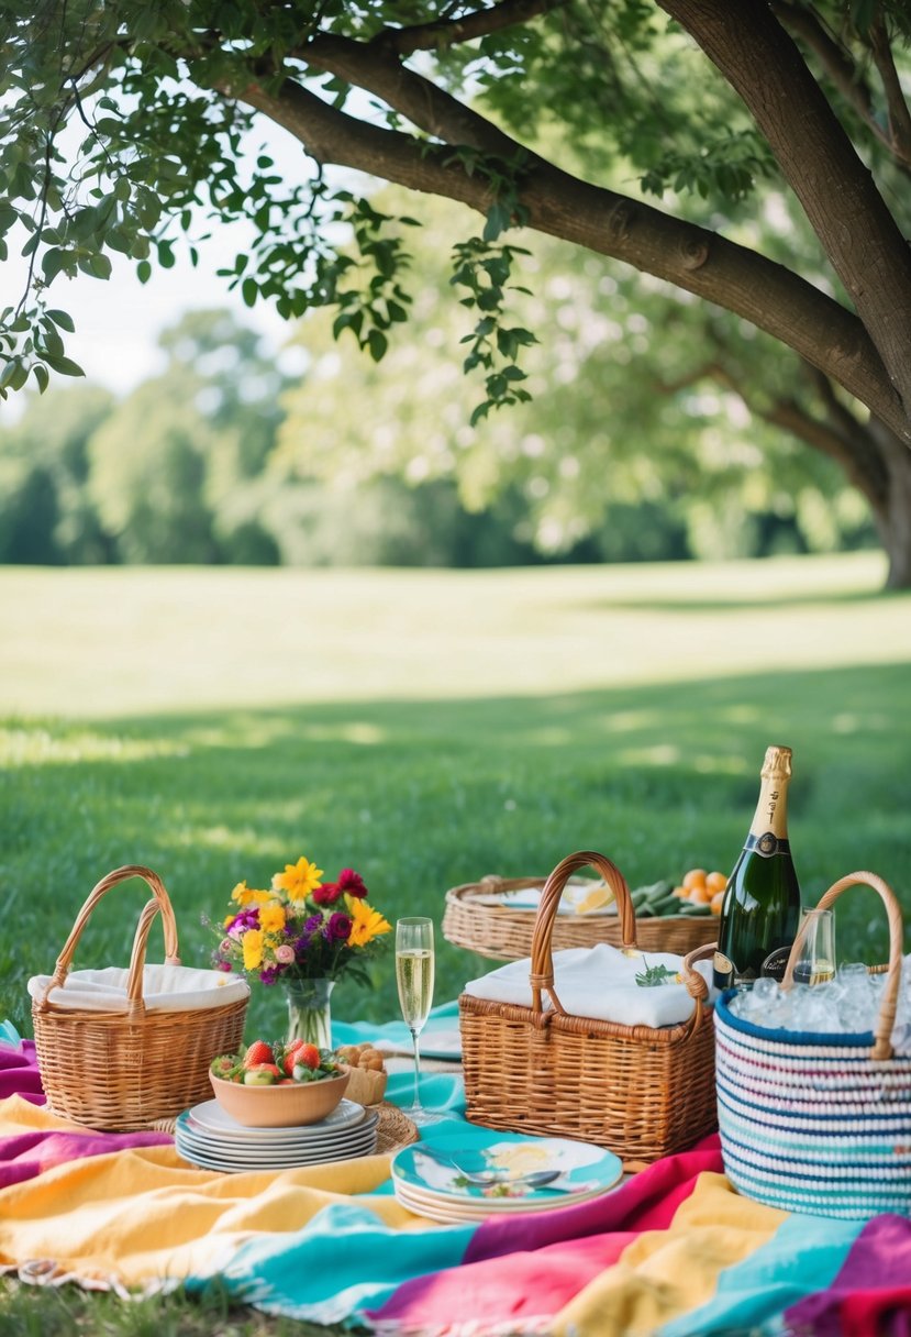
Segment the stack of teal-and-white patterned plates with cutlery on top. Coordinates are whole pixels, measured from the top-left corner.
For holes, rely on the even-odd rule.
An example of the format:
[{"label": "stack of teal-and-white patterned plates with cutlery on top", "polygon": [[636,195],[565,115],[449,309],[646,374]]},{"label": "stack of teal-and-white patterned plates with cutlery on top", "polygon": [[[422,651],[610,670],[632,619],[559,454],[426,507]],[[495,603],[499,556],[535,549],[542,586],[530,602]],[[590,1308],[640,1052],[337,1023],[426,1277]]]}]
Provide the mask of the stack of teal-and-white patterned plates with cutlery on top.
[{"label": "stack of teal-and-white patterned plates with cutlery on top", "polygon": [[[542,1186],[524,1179],[541,1171],[558,1175]],[[472,1183],[469,1175],[476,1173],[493,1182]],[[451,1223],[568,1207],[600,1197],[621,1177],[622,1165],[612,1151],[568,1138],[504,1139],[484,1148],[450,1140],[418,1143],[393,1158],[393,1186],[402,1206]]]}]

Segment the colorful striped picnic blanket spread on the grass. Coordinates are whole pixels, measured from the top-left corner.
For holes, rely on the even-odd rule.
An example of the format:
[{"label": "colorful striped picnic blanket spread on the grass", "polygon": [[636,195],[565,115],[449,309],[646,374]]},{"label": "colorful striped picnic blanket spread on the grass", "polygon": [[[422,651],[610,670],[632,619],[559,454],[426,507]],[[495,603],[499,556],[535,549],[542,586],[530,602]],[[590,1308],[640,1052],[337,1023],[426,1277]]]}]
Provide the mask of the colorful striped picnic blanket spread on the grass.
[{"label": "colorful striped picnic blanket spread on the grass", "polygon": [[[55,1118],[29,1099],[33,1075],[28,1048],[0,1043],[0,1090],[19,1080],[27,1094],[0,1100],[0,1266],[29,1280],[218,1282],[268,1313],[403,1337],[911,1332],[911,1221],[760,1206],[724,1178],[716,1138],[601,1198],[442,1226],[399,1206],[387,1157],[196,1170],[160,1134]],[[433,1082],[456,1107],[457,1080]],[[460,1136],[493,1135],[462,1122]]]}]

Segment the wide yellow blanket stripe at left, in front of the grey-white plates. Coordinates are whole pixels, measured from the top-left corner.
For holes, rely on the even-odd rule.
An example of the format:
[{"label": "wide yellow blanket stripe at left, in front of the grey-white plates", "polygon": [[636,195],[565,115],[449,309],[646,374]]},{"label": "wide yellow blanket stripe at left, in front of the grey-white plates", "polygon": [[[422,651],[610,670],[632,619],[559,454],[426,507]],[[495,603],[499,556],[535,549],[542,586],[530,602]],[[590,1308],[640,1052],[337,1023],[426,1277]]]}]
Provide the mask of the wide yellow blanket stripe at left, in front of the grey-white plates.
[{"label": "wide yellow blanket stripe at left, in front of the grey-white plates", "polygon": [[[21,1104],[16,1123],[13,1100],[3,1102],[4,1134],[76,1127]],[[0,1191],[0,1265],[53,1259],[56,1273],[131,1288],[182,1280],[228,1261],[258,1231],[297,1231],[339,1195],[370,1193],[389,1178],[389,1159],[232,1175],[196,1170],[171,1146],[69,1161]],[[370,1207],[397,1229],[419,1226],[393,1197]]]}]

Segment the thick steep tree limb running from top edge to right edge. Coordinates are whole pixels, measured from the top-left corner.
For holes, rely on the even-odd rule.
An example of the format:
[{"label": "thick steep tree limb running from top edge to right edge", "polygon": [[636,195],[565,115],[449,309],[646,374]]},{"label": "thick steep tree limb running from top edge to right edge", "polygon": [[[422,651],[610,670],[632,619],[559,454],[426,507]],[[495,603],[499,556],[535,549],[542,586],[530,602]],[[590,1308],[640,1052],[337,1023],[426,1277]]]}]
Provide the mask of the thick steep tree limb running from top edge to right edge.
[{"label": "thick steep tree limb running from top edge to right edge", "polygon": [[[911,421],[911,253],[793,40],[771,8],[755,0],[659,3],[749,108]],[[908,440],[907,425],[900,435]]]}]

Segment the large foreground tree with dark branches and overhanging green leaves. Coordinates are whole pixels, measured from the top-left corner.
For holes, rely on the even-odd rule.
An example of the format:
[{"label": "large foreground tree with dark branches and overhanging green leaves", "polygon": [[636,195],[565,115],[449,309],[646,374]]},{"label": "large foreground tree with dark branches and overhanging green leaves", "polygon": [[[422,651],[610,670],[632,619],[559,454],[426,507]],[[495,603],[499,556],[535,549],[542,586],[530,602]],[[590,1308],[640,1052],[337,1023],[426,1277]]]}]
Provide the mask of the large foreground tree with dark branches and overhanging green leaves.
[{"label": "large foreground tree with dark branches and overhanging green leaves", "polygon": [[[866,489],[911,584],[911,111],[906,0],[0,0],[9,203],[28,293],[0,329],[0,389],[77,370],[57,274],[172,263],[202,210],[252,225],[226,274],[287,316],[335,310],[374,360],[407,317],[407,218],[330,178],[357,168],[484,215],[456,249],[480,412],[522,400],[532,333],[509,322],[524,225],[656,275],[792,349],[809,392],[769,408]],[[692,90],[697,88],[695,98]],[[282,180],[244,131],[270,118],[314,168]],[[81,123],[75,147],[68,122]],[[675,213],[610,185],[621,160]],[[812,229],[811,281],[745,235],[761,180]],[[760,199],[761,195],[755,195]],[[704,201],[700,207],[700,201]],[[341,229],[338,225],[345,223]],[[339,250],[349,234],[355,254]],[[743,238],[743,239],[741,239]],[[708,374],[708,372],[707,372]],[[737,368],[712,374],[736,382]],[[864,406],[859,414],[856,405]],[[760,409],[761,410],[761,409]]]}]

